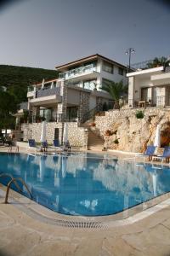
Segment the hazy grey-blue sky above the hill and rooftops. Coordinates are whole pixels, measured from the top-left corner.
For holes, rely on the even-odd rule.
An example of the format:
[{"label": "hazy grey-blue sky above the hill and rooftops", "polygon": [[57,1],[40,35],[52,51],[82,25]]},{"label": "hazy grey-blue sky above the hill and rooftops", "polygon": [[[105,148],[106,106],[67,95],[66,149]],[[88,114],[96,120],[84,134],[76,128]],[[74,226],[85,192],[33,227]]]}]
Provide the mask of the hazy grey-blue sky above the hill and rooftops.
[{"label": "hazy grey-blue sky above the hill and rooftops", "polygon": [[170,55],[170,1],[6,0],[0,64],[54,67],[96,53],[127,65]]}]

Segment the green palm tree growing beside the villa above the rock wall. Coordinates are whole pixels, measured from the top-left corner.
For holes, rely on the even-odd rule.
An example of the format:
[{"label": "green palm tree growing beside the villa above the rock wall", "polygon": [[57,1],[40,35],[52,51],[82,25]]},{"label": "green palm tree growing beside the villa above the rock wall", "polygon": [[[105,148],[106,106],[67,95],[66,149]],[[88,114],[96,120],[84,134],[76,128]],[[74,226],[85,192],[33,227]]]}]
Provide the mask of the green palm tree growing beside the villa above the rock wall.
[{"label": "green palm tree growing beside the villa above the rock wall", "polygon": [[112,99],[115,102],[114,108],[120,108],[119,100],[123,96],[127,95],[128,87],[127,85],[124,85],[122,81],[118,83],[105,81],[105,84],[102,85],[101,90],[105,90],[111,95]]}]

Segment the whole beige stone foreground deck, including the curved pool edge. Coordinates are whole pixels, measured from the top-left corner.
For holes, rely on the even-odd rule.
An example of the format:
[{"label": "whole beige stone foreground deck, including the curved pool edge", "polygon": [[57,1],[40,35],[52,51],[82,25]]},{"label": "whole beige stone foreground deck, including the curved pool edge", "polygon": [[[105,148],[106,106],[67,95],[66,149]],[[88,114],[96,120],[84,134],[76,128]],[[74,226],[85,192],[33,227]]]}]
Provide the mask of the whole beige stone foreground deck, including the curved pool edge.
[{"label": "whole beige stone foreground deck, including the curved pool edge", "polygon": [[[0,149],[4,151],[4,148]],[[114,153],[115,154],[115,153]],[[120,154],[120,157],[127,157]],[[0,256],[3,255],[170,255],[170,200],[124,220],[93,218],[97,228],[73,228],[88,218],[63,217],[0,188]],[[39,214],[38,212],[41,212]],[[64,220],[59,225],[57,220]],[[70,227],[65,227],[65,223]],[[71,223],[71,221],[73,221]],[[55,224],[56,222],[56,224]],[[63,225],[63,226],[62,226]]]}]

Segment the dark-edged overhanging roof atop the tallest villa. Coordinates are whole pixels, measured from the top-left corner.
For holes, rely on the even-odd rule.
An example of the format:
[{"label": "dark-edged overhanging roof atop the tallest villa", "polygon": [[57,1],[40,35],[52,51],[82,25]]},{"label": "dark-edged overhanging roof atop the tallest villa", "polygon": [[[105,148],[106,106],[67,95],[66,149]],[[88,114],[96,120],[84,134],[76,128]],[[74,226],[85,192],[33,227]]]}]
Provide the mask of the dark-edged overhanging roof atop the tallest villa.
[{"label": "dark-edged overhanging roof atop the tallest villa", "polygon": [[99,54],[89,55],[88,57],[84,57],[84,58],[78,59],[77,61],[71,61],[71,62],[65,63],[63,65],[57,66],[55,68],[57,70],[59,70],[61,68],[65,68],[65,67],[71,67],[71,66],[79,64],[79,63],[81,63],[83,61],[92,61],[92,60],[95,60],[97,58],[101,58],[101,59],[103,59],[105,61],[109,61],[109,62],[111,62],[111,63],[113,63],[113,64],[115,64],[117,66],[120,66],[120,67],[123,67],[123,68],[127,68],[126,66],[122,65],[121,63],[113,61],[113,60],[111,60],[111,59],[109,59],[109,58],[107,58],[107,57],[105,57],[103,55],[99,55]]}]

